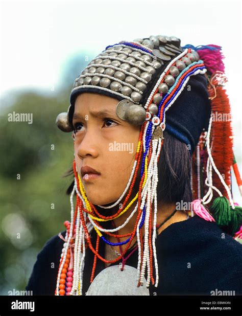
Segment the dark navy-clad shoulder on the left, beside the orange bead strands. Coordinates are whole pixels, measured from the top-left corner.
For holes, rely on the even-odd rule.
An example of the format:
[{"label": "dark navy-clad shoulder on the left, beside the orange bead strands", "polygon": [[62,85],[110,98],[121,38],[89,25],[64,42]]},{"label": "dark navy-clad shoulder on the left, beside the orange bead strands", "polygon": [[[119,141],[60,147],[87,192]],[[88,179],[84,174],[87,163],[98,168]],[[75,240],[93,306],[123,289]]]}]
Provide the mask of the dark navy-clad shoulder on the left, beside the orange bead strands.
[{"label": "dark navy-clad shoulder on the left, beside the orange bead strands", "polygon": [[[61,232],[63,238],[65,233]],[[64,241],[58,235],[47,240],[37,255],[26,290],[33,295],[54,295],[60,255]]]}]

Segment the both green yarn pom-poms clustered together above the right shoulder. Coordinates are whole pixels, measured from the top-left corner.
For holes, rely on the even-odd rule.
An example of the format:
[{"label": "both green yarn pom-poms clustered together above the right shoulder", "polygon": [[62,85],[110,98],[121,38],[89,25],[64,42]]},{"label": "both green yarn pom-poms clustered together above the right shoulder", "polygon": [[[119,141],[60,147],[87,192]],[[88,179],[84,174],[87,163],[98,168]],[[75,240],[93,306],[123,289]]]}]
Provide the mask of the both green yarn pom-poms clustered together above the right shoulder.
[{"label": "both green yarn pom-poms clustered together above the right shoulder", "polygon": [[236,206],[234,209],[225,196],[216,197],[210,211],[217,223],[226,233],[234,235],[242,224],[242,208]]}]

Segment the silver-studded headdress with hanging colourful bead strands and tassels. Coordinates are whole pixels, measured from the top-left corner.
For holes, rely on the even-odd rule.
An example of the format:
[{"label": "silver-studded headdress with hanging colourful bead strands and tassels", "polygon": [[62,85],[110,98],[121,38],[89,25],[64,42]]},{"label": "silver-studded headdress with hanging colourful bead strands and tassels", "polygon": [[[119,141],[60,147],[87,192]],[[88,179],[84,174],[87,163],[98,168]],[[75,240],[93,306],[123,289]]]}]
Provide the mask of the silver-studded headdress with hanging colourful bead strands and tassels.
[{"label": "silver-studded headdress with hanging colourful bead strands and tassels", "polygon": [[[216,221],[234,238],[241,236],[242,209],[233,202],[231,166],[240,192],[242,182],[232,151],[231,112],[224,89],[223,58],[221,47],[215,45],[181,47],[180,39],[175,36],[136,38],[106,47],[75,80],[68,111],[61,113],[56,120],[61,130],[70,132],[74,129],[72,115],[77,96],[83,92],[93,92],[119,100],[117,116],[130,124],[140,125],[140,134],[126,189],[111,206],[99,206],[103,209],[117,206],[114,215],[103,216],[88,200],[74,160],[71,219],[64,223],[66,242],[60,260],[56,295],[82,294],[86,246],[94,253],[92,282],[98,258],[107,263],[121,259],[121,256],[111,261],[102,258],[99,254],[100,242],[126,244],[124,255],[135,235],[138,243],[137,286],[146,281],[147,287],[150,283],[158,285],[156,188],[157,163],[165,141],[164,129],[186,143],[192,155],[193,201],[192,209],[187,210],[188,215],[193,216],[195,212],[206,220]],[[127,205],[140,166],[139,190]],[[76,208],[73,202],[75,192]],[[119,208],[118,203],[124,197],[125,201]],[[120,227],[102,227],[102,222],[122,216],[133,204],[133,212]],[[111,243],[105,238],[105,235],[120,237],[116,232],[132,216],[136,217],[135,227],[126,235],[126,241]],[[95,245],[90,239],[93,229],[97,234]]]}]

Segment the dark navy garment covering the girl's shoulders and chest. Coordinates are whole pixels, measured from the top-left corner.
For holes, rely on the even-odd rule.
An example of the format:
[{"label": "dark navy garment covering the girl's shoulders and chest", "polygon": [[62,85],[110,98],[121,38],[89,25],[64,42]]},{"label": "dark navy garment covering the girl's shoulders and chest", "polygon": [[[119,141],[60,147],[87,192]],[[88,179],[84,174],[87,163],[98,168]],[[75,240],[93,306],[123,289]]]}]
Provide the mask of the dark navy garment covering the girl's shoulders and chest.
[{"label": "dark navy garment covering the girl's shoulders and chest", "polygon": [[[93,242],[94,239],[95,234]],[[63,240],[54,236],[38,254],[26,287],[33,295],[54,295],[62,245]],[[216,223],[197,215],[173,223],[157,236],[156,251],[159,284],[157,288],[150,286],[150,295],[211,295],[210,291],[216,289],[242,295],[242,245],[223,233]],[[104,255],[104,246],[100,254]],[[137,258],[135,251],[126,264],[137,267]],[[83,295],[90,285],[92,262],[93,254],[88,248]],[[95,276],[104,268],[98,259]]]}]

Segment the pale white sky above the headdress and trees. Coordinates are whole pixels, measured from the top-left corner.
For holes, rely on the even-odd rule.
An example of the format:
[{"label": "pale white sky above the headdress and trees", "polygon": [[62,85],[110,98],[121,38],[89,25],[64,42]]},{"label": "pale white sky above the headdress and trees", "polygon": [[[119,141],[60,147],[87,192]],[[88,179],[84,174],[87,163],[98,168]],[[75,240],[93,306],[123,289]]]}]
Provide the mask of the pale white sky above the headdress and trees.
[{"label": "pale white sky above the headdress and trees", "polygon": [[58,91],[73,56],[98,55],[120,40],[161,34],[181,38],[181,46],[222,46],[241,170],[240,1],[2,0],[0,8],[0,100],[30,88]]}]

